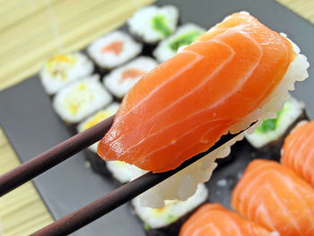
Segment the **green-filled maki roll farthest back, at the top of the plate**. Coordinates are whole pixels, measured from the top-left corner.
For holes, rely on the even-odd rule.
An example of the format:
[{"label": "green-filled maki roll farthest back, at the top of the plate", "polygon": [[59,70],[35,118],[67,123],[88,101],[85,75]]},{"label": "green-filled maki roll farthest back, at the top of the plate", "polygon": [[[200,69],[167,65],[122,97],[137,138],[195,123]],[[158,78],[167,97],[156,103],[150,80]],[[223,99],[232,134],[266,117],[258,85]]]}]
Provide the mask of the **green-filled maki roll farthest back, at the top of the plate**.
[{"label": "green-filled maki roll farthest back, at the top of the plate", "polygon": [[178,18],[179,10],[173,5],[150,5],[138,10],[127,24],[135,37],[156,44],[176,30]]}]

